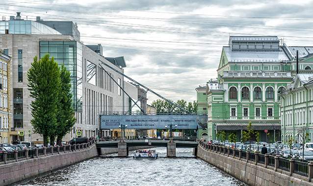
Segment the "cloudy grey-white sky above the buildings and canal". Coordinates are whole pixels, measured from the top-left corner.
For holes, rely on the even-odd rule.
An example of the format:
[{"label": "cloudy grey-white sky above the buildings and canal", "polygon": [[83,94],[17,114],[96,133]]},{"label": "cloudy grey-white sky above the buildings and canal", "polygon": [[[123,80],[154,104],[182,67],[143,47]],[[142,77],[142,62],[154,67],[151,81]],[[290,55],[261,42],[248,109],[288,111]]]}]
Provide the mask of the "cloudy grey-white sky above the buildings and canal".
[{"label": "cloudy grey-white sky above the buildings and canal", "polygon": [[[216,78],[229,35],[278,35],[313,46],[311,0],[0,0],[0,16],[78,23],[84,44],[125,56],[125,73],[166,98],[196,99]],[[157,99],[149,94],[149,103]]]}]

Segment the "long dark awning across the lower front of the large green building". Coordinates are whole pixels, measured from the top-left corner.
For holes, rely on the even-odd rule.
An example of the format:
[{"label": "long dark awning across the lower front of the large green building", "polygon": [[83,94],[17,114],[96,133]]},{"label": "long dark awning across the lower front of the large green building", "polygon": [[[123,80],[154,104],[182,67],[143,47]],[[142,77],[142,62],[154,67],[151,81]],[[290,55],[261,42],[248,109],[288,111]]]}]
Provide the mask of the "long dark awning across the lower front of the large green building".
[{"label": "long dark awning across the lower front of the large green building", "polygon": [[[247,130],[248,122],[213,122],[218,131],[236,131]],[[262,130],[281,130],[279,122],[252,122],[252,129],[257,131]]]}]

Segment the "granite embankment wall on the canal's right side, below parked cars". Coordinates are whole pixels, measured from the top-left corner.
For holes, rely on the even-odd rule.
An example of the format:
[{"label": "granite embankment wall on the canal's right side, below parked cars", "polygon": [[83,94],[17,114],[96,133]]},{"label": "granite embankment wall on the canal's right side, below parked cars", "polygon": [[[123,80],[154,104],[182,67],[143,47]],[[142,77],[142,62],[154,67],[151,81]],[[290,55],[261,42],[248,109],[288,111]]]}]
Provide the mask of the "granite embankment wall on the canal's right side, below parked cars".
[{"label": "granite embankment wall on the canal's right side, below parked cars", "polygon": [[313,186],[311,182],[288,175],[287,171],[265,168],[263,165],[256,165],[254,161],[239,160],[227,154],[205,149],[201,145],[198,146],[197,157],[250,186]]}]

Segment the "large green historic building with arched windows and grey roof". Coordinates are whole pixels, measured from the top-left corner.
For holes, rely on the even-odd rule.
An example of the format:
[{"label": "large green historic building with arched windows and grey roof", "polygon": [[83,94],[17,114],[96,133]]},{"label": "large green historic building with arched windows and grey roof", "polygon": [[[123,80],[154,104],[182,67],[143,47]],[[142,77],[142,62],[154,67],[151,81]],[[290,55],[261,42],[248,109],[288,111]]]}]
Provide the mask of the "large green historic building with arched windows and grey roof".
[{"label": "large green historic building with arched windows and grey roof", "polygon": [[[272,140],[280,140],[279,93],[295,74],[298,48],[280,45],[277,36],[230,36],[229,45],[222,49],[218,78],[206,86],[209,139],[216,139],[218,131],[226,131],[236,133],[240,140],[251,122],[261,141],[266,138],[264,130],[269,131]],[[311,65],[303,63],[303,69],[311,70]],[[205,102],[203,87],[196,90],[201,109]]]}]

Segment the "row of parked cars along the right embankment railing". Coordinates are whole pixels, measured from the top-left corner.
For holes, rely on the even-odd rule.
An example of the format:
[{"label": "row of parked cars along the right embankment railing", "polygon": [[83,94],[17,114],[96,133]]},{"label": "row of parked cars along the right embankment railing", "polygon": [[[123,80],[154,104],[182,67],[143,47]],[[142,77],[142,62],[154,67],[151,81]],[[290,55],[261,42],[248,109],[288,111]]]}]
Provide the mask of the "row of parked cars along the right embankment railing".
[{"label": "row of parked cars along the right embankment railing", "polygon": [[251,151],[251,152],[261,152],[261,148],[263,144],[267,148],[267,153],[271,155],[280,155],[284,158],[295,158],[301,161],[311,161],[313,160],[313,143],[305,143],[304,151],[302,144],[294,143],[291,145],[291,150],[288,145],[282,144],[281,141],[277,141],[275,143],[266,143],[266,142],[255,142],[255,141],[246,141],[231,143],[229,141],[225,141],[221,143],[218,140],[213,140],[212,144],[215,145],[225,145],[227,147],[236,148],[239,150]]}]

